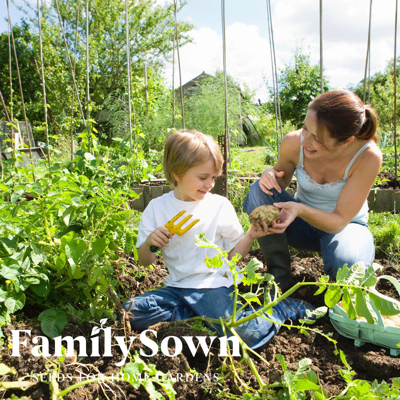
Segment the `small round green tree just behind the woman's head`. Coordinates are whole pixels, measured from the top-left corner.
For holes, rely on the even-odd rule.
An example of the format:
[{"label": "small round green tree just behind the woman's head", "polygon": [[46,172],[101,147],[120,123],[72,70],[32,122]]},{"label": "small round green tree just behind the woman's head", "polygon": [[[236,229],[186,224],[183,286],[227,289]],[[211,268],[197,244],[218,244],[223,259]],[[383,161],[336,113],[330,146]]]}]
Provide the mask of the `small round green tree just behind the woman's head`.
[{"label": "small round green tree just behind the woman's head", "polygon": [[[319,63],[310,64],[309,54],[301,48],[294,51],[294,63],[286,64],[277,78],[280,116],[282,121],[292,124],[302,123],[307,111],[307,104],[320,94]],[[324,80],[324,91],[328,90],[328,79]],[[273,87],[268,87],[270,98],[274,98]],[[275,113],[273,101],[268,103],[268,110]]]}]

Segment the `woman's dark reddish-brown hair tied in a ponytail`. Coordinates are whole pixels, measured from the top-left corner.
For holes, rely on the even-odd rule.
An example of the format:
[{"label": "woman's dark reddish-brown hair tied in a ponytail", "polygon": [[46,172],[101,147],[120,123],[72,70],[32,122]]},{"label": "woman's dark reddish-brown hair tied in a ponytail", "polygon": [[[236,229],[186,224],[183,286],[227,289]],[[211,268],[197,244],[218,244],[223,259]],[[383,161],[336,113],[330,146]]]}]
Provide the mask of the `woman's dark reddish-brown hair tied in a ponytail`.
[{"label": "woman's dark reddish-brown hair tied in a ponytail", "polygon": [[378,140],[375,111],[352,91],[327,91],[313,99],[308,109],[315,111],[318,139],[321,139],[326,129],[338,143],[350,136],[375,142]]}]

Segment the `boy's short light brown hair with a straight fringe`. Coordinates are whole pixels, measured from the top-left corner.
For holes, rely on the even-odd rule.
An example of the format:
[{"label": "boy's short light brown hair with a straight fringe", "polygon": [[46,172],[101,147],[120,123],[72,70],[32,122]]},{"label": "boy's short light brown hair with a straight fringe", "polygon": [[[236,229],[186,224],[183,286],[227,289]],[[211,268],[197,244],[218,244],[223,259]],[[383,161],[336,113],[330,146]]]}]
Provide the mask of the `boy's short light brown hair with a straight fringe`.
[{"label": "boy's short light brown hair with a straight fringe", "polygon": [[212,159],[217,175],[222,172],[223,156],[212,136],[198,130],[176,130],[165,141],[163,168],[166,180],[175,186],[173,174],[182,175],[190,167]]}]

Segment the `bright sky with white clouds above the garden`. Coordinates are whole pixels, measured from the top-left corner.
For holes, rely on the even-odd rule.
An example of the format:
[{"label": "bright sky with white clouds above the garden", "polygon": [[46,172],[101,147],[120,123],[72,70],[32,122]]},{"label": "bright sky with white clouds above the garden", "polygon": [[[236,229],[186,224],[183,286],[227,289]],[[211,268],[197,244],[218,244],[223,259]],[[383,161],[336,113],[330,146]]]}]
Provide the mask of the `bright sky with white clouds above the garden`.
[{"label": "bright sky with white clouds above the garden", "polygon": [[[6,4],[6,0],[0,0]],[[16,3],[21,0],[15,0]],[[157,0],[164,3],[166,0]],[[172,0],[168,0],[172,1]],[[179,1],[179,0],[178,0]],[[332,88],[347,88],[364,76],[371,0],[322,0],[322,58]],[[396,0],[372,1],[370,75],[383,71],[394,55]],[[254,90],[254,99],[267,99],[272,84],[271,51],[266,0],[225,0],[226,73]],[[278,70],[293,62],[296,47],[319,61],[319,0],[270,0],[273,43]],[[193,24],[192,43],[179,47],[182,84],[202,71],[223,70],[222,10],[220,0],[187,0],[179,20]],[[4,10],[6,7],[3,8]],[[11,23],[21,13],[10,4]],[[4,17],[0,31],[7,29]],[[399,50],[396,52],[399,56]],[[179,76],[175,54],[174,85]],[[172,82],[172,64],[165,67]]]}]

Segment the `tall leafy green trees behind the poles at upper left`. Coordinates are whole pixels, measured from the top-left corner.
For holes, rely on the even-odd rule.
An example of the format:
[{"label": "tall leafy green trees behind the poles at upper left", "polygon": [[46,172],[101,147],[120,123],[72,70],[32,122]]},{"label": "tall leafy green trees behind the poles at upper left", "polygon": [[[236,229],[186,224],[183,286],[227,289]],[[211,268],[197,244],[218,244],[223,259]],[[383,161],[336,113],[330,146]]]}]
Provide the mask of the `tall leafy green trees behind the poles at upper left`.
[{"label": "tall leafy green trees behind the poles at upper left", "polygon": [[[31,8],[28,1],[26,8]],[[60,140],[66,139],[71,130],[81,131],[85,119],[99,120],[99,111],[104,109],[103,101],[114,92],[126,93],[126,31],[125,2],[111,3],[99,0],[88,4],[88,57],[89,57],[89,93],[86,93],[86,10],[79,2],[58,1],[58,9],[65,34],[61,29],[58,10],[55,3],[40,3],[41,35],[44,60],[44,80],[48,103],[50,131]],[[31,15],[37,10],[31,9]],[[173,48],[174,5],[159,5],[155,0],[141,0],[128,3],[128,28],[131,54],[131,92],[132,108],[135,109],[138,125],[145,118],[146,112],[154,112],[153,104],[162,89],[161,77],[163,62],[171,58]],[[188,30],[191,26],[178,22],[180,44],[189,41]],[[44,120],[43,99],[39,72],[40,65],[39,37],[37,19],[21,26],[13,27],[15,47],[22,75],[22,90],[27,105],[27,118],[36,126]],[[10,106],[8,37],[0,35],[0,89],[7,107]],[[23,120],[21,113],[15,60],[12,56],[13,117]],[[71,65],[69,60],[71,61]],[[144,64],[147,65],[147,103],[144,100]],[[72,72],[73,69],[73,79]],[[73,80],[76,85],[74,90]],[[79,97],[81,106],[76,97]],[[90,98],[89,98],[90,97]],[[72,101],[73,100],[73,101]],[[72,109],[71,109],[72,108]],[[134,118],[133,118],[134,119]],[[106,138],[106,123],[96,126],[99,136]],[[42,131],[36,132],[38,139],[43,140]],[[44,140],[43,140],[44,141]]]}]

